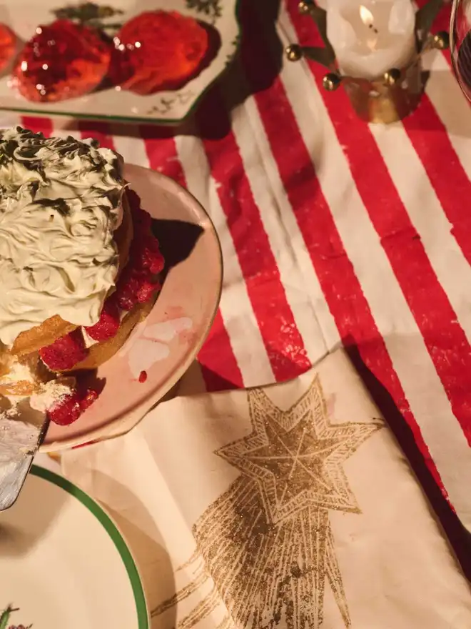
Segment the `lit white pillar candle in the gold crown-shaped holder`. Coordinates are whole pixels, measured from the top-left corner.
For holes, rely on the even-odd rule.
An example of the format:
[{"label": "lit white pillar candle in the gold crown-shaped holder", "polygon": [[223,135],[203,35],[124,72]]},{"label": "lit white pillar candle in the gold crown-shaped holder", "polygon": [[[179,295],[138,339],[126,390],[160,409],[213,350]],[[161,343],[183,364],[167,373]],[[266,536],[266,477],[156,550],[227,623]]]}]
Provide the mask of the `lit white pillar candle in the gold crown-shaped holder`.
[{"label": "lit white pillar candle in the gold crown-shaped holder", "polygon": [[410,0],[329,0],[327,36],[343,74],[377,79],[415,52]]}]

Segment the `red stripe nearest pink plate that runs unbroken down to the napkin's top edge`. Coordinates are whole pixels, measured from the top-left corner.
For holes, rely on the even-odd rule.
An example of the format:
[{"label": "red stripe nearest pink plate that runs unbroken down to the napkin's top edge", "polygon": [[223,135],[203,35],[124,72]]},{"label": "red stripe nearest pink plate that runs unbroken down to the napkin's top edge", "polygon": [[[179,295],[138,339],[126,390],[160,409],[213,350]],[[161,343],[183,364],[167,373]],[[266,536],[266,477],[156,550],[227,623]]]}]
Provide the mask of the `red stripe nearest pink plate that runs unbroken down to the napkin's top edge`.
[{"label": "red stripe nearest pink plate that runs unbroken down to the napkin's top edge", "polygon": [[[211,121],[228,116],[217,90],[208,96],[198,115],[201,127],[208,124],[205,116]],[[289,380],[308,370],[310,362],[286,298],[260,210],[253,199],[236,139],[228,130],[224,137],[205,139],[203,143],[275,380]]]}]

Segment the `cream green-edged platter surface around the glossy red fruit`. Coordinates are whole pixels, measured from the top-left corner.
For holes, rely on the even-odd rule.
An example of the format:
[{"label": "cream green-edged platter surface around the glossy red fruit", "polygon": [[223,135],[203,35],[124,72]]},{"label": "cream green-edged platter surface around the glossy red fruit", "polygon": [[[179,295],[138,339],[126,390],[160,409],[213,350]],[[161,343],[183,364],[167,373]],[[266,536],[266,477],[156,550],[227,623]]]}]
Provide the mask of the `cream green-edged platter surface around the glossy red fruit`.
[{"label": "cream green-edged platter surface around the glossy red fruit", "polygon": [[[39,24],[56,19],[54,11],[81,3],[61,0],[5,0],[0,4],[0,22],[9,26],[22,41],[34,35]],[[9,87],[8,74],[0,78],[0,109],[46,116],[67,115],[92,119],[111,118],[176,124],[196,105],[203,92],[216,81],[236,54],[239,41],[238,0],[103,0],[96,4],[99,24],[123,24],[143,11],[163,9],[192,16],[207,25],[211,46],[203,69],[174,91],[140,96],[116,88],[98,89],[77,99],[56,103],[34,103]],[[101,11],[100,11],[101,9]],[[113,34],[113,29],[107,31]],[[156,34],[158,36],[158,34]]]}]

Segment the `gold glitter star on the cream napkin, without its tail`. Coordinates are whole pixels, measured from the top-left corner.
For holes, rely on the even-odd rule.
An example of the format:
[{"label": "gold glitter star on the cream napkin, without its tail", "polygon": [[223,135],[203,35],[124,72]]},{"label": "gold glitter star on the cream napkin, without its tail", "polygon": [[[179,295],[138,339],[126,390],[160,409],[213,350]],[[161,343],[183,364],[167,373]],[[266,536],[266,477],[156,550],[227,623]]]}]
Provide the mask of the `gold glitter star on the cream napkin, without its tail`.
[{"label": "gold glitter star on the cream napkin, without its tail", "polygon": [[330,423],[319,387],[315,381],[285,411],[263,390],[250,391],[252,435],[218,451],[231,465],[258,480],[270,522],[309,505],[359,512],[342,464],[379,425]]}]

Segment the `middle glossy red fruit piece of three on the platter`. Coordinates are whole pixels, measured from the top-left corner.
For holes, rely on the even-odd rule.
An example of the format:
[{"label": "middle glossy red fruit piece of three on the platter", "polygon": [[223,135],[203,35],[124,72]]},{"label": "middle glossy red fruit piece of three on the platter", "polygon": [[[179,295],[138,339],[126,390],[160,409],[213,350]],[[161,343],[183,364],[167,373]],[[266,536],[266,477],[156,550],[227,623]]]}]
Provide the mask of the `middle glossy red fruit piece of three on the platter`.
[{"label": "middle glossy red fruit piece of three on the platter", "polygon": [[111,46],[97,31],[69,20],[38,26],[16,59],[11,83],[29,101],[83,96],[108,71]]}]

